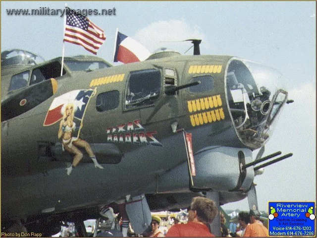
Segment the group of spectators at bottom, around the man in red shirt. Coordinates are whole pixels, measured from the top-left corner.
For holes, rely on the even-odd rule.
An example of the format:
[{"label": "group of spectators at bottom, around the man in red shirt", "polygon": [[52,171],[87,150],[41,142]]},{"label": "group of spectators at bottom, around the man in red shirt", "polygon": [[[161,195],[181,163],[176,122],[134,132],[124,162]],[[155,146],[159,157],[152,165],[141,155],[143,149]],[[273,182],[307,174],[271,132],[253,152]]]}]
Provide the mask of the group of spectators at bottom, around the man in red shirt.
[{"label": "group of spectators at bottom, around the man in red shirt", "polygon": [[[159,230],[161,219],[152,216],[151,232],[143,234],[145,237],[215,237],[212,234],[209,224],[218,213],[215,203],[205,197],[195,197],[188,210],[188,222],[179,223],[174,220],[166,233]],[[235,233],[230,233],[226,227],[226,219],[221,212],[220,231],[221,237],[268,237],[267,228],[260,221],[260,213],[250,210],[250,212],[240,212],[238,215],[239,228]]]}]

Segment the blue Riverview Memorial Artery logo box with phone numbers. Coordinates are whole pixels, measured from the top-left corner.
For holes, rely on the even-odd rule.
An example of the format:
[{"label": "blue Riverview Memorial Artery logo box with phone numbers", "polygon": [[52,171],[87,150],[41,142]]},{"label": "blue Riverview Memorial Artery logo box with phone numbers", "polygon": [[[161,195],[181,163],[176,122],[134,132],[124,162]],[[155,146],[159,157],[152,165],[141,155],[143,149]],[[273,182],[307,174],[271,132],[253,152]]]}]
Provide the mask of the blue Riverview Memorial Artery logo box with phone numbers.
[{"label": "blue Riverview Memorial Artery logo box with phone numbers", "polygon": [[315,202],[268,202],[269,237],[316,237]]}]

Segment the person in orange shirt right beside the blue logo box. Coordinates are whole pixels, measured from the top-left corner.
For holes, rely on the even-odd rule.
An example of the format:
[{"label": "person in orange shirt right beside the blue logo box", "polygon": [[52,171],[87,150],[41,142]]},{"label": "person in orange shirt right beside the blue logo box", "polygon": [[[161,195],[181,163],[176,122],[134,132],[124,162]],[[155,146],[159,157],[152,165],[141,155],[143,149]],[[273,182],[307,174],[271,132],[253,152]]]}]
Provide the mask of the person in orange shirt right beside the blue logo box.
[{"label": "person in orange shirt right beside the blue logo box", "polygon": [[257,210],[250,210],[250,225],[246,227],[243,237],[268,237],[268,230],[260,219],[260,212]]}]

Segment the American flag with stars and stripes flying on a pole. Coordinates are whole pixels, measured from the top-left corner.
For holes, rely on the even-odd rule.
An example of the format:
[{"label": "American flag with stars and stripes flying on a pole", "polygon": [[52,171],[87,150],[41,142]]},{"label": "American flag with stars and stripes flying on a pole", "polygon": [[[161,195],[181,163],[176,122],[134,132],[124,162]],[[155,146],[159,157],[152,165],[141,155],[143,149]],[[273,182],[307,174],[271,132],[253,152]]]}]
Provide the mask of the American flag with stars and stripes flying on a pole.
[{"label": "American flag with stars and stripes flying on a pole", "polygon": [[64,41],[80,45],[97,55],[98,49],[105,40],[104,30],[96,26],[87,17],[73,12],[66,15]]}]

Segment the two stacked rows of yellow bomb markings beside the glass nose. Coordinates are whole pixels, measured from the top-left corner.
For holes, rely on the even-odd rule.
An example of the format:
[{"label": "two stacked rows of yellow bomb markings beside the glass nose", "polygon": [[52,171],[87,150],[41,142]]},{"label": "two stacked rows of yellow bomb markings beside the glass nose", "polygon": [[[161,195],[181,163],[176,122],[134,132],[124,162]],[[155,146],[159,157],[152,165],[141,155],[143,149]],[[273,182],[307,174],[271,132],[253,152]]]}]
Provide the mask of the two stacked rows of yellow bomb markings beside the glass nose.
[{"label": "two stacked rows of yellow bomb markings beside the glass nose", "polygon": [[224,119],[223,109],[218,108],[222,106],[220,95],[189,100],[187,101],[187,106],[190,113],[214,109],[211,111],[190,115],[190,122],[192,126],[203,125]]}]

